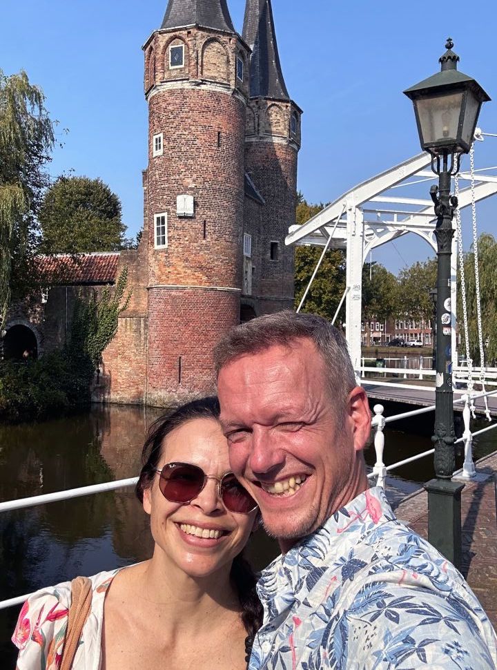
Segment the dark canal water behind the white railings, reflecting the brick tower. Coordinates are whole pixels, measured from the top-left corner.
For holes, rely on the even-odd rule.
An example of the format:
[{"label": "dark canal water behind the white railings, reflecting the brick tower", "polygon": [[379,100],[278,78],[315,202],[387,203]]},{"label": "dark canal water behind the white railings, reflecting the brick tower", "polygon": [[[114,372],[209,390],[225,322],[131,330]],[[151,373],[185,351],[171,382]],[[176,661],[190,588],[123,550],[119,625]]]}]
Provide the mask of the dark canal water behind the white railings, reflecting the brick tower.
[{"label": "dark canal water behind the white railings, reflecting the brick tower", "polygon": [[[0,500],[134,477],[146,430],[160,413],[155,408],[94,406],[85,414],[45,423],[0,425]],[[385,463],[431,448],[433,415],[416,419],[416,428],[407,425],[407,430],[417,434],[385,431]],[[475,440],[476,458],[496,449],[493,431]],[[375,461],[372,443],[366,460],[369,466]],[[433,474],[431,457],[409,463],[389,477],[387,493],[396,501]],[[152,549],[148,517],[129,489],[0,513],[0,537],[0,600],[142,561]],[[255,535],[249,555],[257,568],[275,553],[271,541]],[[15,667],[10,635],[19,609],[0,611],[2,670]]]}]

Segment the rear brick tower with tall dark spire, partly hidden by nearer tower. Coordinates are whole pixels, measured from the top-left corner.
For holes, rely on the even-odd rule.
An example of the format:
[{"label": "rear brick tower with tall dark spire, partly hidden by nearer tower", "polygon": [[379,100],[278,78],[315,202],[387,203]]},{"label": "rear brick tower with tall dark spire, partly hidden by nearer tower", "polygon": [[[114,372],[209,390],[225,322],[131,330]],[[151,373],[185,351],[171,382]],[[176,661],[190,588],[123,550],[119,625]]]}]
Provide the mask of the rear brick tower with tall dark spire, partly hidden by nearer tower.
[{"label": "rear brick tower with tall dark spire, partly hidden by nearer tower", "polygon": [[260,274],[253,294],[258,294],[257,314],[267,314],[293,307],[294,254],[284,238],[295,223],[302,110],[284,83],[271,0],[246,1],[242,37],[252,50],[245,169],[265,201],[257,236]]}]

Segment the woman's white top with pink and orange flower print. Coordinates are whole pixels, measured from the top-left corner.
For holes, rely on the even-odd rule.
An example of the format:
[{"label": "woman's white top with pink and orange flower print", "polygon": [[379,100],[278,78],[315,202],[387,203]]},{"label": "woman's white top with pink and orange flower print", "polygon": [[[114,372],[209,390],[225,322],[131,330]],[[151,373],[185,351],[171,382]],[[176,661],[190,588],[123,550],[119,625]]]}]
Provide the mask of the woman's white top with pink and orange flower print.
[{"label": "woman's white top with pink and orange flower print", "polygon": [[[99,670],[104,599],[119,570],[90,577],[92,604],[84,625],[73,670]],[[41,588],[23,605],[12,642],[19,649],[17,669],[59,670],[71,601],[71,583]]]}]

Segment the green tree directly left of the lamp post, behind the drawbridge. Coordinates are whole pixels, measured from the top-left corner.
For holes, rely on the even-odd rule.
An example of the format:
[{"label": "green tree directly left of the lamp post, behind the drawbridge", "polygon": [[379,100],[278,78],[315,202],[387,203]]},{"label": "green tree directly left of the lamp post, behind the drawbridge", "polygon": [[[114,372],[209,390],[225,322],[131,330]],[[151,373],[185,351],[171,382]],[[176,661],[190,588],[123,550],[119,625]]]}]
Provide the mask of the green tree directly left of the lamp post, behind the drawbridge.
[{"label": "green tree directly left of the lamp post, behind the drawbridge", "polygon": [[433,303],[429,292],[436,287],[436,258],[413,263],[400,271],[398,316],[423,318],[433,316]]}]

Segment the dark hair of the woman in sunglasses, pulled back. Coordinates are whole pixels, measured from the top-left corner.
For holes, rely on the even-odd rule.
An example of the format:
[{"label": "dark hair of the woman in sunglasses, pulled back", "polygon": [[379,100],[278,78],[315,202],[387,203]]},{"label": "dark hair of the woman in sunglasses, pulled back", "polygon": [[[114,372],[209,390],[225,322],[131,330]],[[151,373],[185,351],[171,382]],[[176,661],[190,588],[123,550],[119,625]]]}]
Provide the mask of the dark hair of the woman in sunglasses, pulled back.
[{"label": "dark hair of the woman in sunglasses, pulled back", "polygon": [[[164,439],[168,434],[193,419],[219,421],[220,412],[220,404],[216,397],[202,398],[182,405],[171,414],[164,414],[150,426],[142,450],[142,471],[135,489],[140,502],[143,502],[144,490],[152,486],[162,456]],[[233,559],[230,578],[242,606],[242,622],[247,632],[245,652],[248,664],[255,633],[262,625],[262,604],[255,591],[257,577],[249,562],[244,558],[243,552]]]}]

